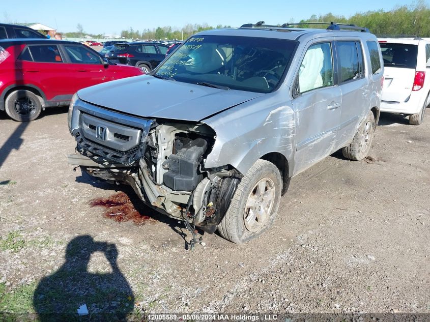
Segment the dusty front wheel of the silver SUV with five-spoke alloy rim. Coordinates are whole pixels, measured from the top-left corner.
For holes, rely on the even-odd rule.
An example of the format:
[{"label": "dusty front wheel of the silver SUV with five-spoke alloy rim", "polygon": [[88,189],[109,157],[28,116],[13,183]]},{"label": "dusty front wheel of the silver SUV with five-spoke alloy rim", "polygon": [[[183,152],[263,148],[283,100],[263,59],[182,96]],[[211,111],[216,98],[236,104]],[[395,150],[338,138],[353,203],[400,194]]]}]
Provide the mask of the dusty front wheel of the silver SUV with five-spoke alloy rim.
[{"label": "dusty front wheel of the silver SUV with five-spoke alloy rim", "polygon": [[[242,178],[230,207],[218,224],[220,235],[236,244],[260,236],[275,221],[281,190],[282,178],[279,169],[269,161],[257,160]],[[261,194],[262,199],[255,198]],[[257,206],[255,206],[255,201]],[[249,207],[250,204],[253,206]],[[261,212],[262,209],[266,210],[264,212],[266,216],[263,216],[263,219],[261,213],[259,216],[257,212],[253,212],[257,209],[256,207],[259,207]]]}]

